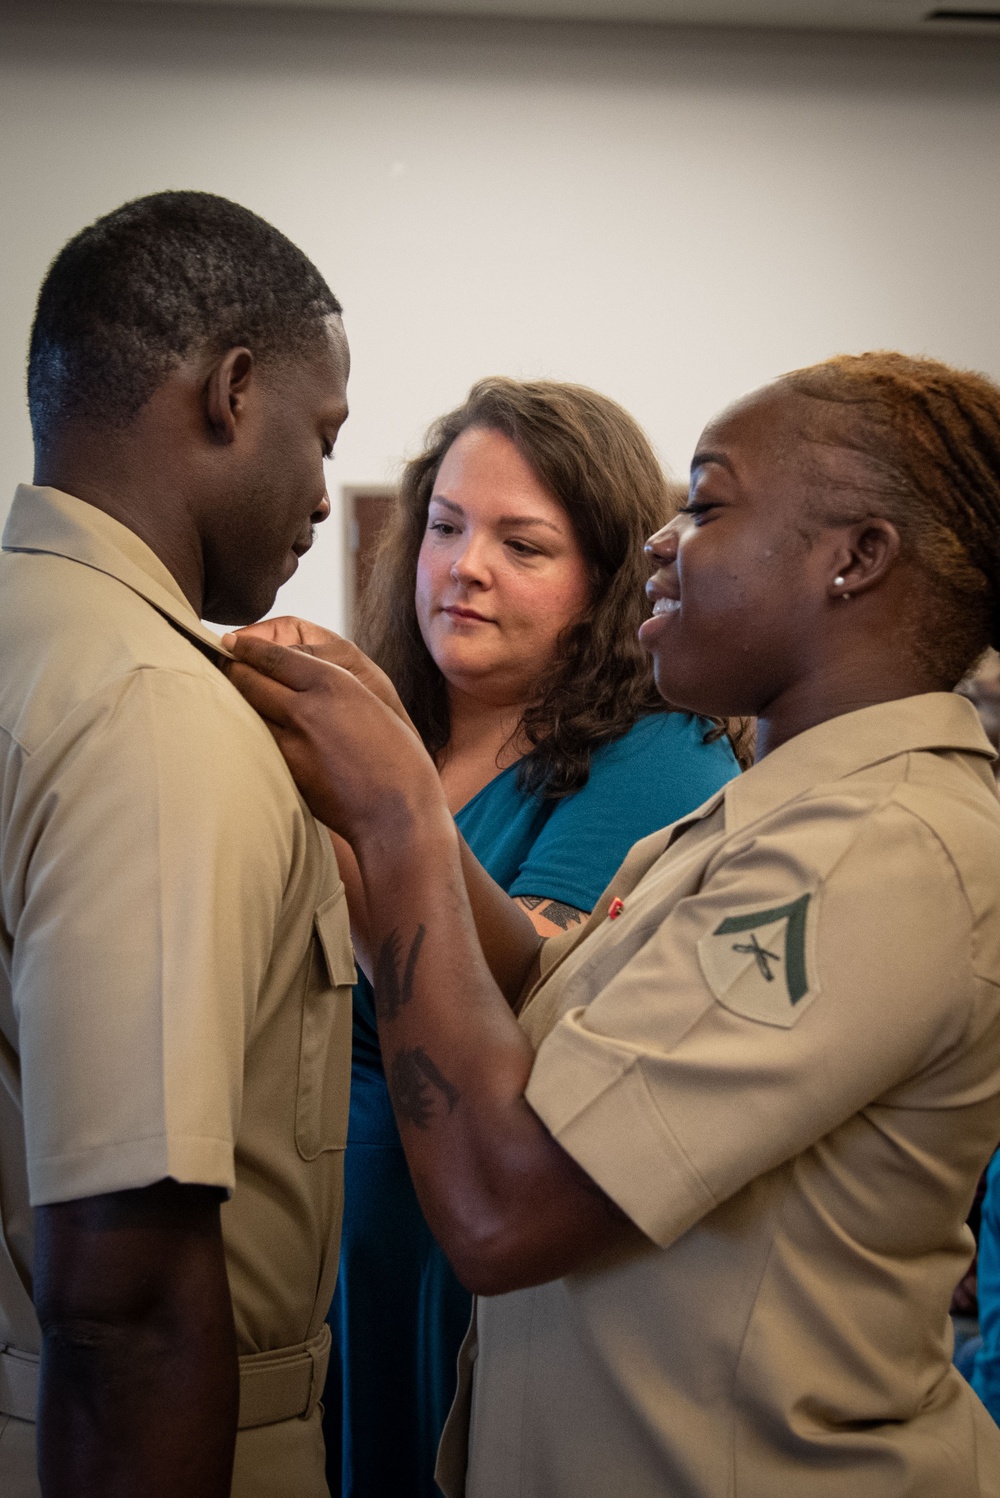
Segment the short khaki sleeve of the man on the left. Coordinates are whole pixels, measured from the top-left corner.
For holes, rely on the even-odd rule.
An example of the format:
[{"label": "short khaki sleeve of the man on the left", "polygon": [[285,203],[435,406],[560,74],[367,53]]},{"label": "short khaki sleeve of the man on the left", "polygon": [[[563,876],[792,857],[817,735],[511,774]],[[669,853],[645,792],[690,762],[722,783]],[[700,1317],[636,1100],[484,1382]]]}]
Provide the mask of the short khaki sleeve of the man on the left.
[{"label": "short khaki sleeve of the man on the left", "polygon": [[163,670],[24,758],[3,884],[33,1204],[166,1176],[232,1189],[284,774],[222,676]]}]

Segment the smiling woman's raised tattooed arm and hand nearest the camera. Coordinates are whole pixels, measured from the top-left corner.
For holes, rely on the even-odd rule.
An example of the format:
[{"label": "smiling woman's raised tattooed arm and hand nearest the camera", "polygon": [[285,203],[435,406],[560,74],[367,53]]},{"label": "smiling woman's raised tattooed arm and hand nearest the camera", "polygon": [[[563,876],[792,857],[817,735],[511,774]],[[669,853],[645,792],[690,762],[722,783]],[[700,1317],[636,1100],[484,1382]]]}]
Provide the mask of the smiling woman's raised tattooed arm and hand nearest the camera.
[{"label": "smiling woman's raised tattooed arm and hand nearest the camera", "polygon": [[[479,1294],[542,1284],[636,1230],[528,1107],[531,1046],[496,983],[437,771],[349,671],[241,638],[232,680],[262,713],[311,810],[355,849],[368,905],[376,1016],[421,1206]],[[377,764],[364,752],[377,743]],[[496,888],[496,885],[494,885]],[[527,975],[515,935],[506,959]],[[531,956],[530,956],[531,954]]]}]

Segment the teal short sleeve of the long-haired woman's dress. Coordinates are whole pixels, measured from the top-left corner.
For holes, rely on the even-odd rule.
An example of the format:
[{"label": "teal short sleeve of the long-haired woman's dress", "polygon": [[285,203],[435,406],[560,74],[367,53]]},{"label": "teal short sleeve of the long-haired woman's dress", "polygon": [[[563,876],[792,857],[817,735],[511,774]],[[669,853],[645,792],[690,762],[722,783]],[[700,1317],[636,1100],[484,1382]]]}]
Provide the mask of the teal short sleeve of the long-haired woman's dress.
[{"label": "teal short sleeve of the long-haired woman's dress", "polygon": [[653,713],[599,749],[587,783],[557,804],[509,893],[591,911],[633,843],[740,773],[726,739],[705,743],[710,727],[687,713]]}]

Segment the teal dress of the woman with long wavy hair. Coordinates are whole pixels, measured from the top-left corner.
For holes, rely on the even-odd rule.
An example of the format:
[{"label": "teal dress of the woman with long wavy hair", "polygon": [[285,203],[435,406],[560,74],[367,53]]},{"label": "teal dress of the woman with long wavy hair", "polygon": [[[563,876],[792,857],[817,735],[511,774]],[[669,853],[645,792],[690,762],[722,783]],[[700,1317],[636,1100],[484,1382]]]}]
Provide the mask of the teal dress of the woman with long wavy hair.
[{"label": "teal dress of the woman with long wavy hair", "polygon": [[[455,821],[509,894],[590,911],[633,842],[701,806],[738,767],[726,740],[684,713],[641,719],[593,755],[560,801],[518,786],[512,765]],[[455,1393],[470,1297],[430,1234],[386,1089],[371,987],[355,989],[340,1279],[323,1395],[334,1498],[434,1498],[434,1458]]]}]

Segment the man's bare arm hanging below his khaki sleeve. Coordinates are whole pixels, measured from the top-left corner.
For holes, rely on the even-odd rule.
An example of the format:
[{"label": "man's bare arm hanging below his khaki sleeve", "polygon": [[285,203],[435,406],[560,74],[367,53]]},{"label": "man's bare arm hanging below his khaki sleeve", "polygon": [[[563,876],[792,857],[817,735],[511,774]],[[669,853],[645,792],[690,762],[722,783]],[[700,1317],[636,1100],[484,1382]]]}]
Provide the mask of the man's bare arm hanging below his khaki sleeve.
[{"label": "man's bare arm hanging below his khaki sleeve", "polygon": [[229,1498],[240,1408],[222,1192],[36,1207],[45,1498]]}]

